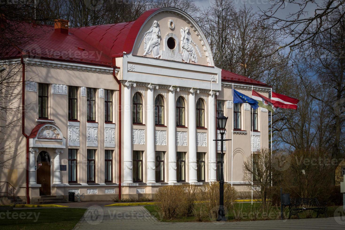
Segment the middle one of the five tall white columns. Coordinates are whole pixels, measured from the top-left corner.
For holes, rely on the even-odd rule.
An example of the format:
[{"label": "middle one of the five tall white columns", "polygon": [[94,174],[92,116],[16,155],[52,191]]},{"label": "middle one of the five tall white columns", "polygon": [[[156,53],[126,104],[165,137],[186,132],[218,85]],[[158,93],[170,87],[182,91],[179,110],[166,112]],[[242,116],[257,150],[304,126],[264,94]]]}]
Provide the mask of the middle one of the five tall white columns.
[{"label": "middle one of the five tall white columns", "polygon": [[168,128],[168,144],[169,144],[169,184],[176,183],[176,99],[175,91],[180,91],[177,86],[169,88],[169,128]]}]

